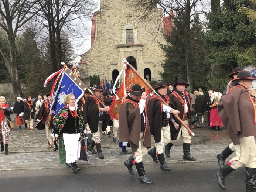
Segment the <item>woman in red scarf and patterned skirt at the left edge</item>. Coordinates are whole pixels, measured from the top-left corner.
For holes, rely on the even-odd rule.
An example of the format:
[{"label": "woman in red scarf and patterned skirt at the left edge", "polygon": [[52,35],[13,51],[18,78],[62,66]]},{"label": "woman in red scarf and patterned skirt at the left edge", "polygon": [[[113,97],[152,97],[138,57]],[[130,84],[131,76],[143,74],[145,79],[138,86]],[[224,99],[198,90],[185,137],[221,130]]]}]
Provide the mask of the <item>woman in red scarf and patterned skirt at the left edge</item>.
[{"label": "woman in red scarf and patterned skirt at the left edge", "polygon": [[1,151],[4,151],[5,155],[8,155],[8,143],[10,134],[10,124],[8,120],[11,120],[10,114],[13,114],[13,110],[8,104],[5,104],[6,100],[3,96],[0,97],[0,143]]}]

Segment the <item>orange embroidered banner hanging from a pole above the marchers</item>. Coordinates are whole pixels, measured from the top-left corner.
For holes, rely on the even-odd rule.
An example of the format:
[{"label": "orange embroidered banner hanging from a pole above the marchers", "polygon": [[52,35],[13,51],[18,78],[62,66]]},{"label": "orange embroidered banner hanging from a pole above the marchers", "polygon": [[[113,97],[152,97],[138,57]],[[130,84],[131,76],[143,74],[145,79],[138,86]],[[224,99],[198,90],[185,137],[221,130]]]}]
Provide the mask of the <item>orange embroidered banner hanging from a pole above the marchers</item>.
[{"label": "orange embroidered banner hanging from a pole above the marchers", "polygon": [[[135,84],[139,84],[141,87],[145,87],[145,91],[147,92],[147,94],[151,93],[151,89],[143,82],[143,80],[141,79],[141,76],[136,75],[136,73],[134,73],[132,71],[131,68],[127,69],[126,71],[126,78],[125,78],[125,88],[126,88],[126,93],[129,92],[132,89],[132,86]],[[113,100],[110,109],[108,111],[109,116],[112,119],[119,119],[119,107],[123,101],[123,85],[120,86],[119,90],[117,91],[116,95],[119,97],[118,100]]]}]

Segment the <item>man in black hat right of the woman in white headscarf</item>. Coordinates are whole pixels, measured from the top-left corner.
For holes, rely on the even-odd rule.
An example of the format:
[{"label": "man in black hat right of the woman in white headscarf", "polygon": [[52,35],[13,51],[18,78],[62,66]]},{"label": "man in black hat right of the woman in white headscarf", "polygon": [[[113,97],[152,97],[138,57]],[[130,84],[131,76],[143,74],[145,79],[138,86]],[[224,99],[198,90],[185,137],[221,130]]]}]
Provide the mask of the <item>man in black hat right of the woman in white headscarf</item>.
[{"label": "man in black hat right of the woman in white headscarf", "polygon": [[35,102],[32,101],[32,96],[27,96],[24,102],[24,120],[27,123],[27,129],[34,130],[33,121],[35,118]]}]

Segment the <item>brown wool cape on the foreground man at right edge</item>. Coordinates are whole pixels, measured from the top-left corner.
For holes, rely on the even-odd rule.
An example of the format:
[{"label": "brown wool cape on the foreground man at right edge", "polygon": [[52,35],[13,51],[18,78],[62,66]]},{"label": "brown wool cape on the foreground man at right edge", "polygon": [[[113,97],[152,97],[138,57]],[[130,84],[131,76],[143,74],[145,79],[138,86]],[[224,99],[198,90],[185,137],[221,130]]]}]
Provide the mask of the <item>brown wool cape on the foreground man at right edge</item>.
[{"label": "brown wool cape on the foreground man at right edge", "polygon": [[256,136],[255,113],[249,90],[240,85],[230,89],[218,104],[218,114],[235,145],[242,137]]}]

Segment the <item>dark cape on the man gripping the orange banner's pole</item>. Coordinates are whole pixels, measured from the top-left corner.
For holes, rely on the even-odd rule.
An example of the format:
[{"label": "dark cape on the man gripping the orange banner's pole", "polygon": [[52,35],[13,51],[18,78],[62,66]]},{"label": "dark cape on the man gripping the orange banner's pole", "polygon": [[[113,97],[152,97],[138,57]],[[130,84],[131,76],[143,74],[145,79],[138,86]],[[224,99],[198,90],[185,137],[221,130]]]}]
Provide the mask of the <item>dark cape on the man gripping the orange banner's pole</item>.
[{"label": "dark cape on the man gripping the orange banner's pole", "polygon": [[[169,97],[166,96],[167,104],[170,102]],[[156,143],[161,141],[162,130],[162,110],[164,103],[160,100],[160,97],[154,94],[150,97],[147,103],[147,116],[149,119],[150,133],[154,136]],[[169,107],[174,108],[170,102]],[[171,114],[170,114],[171,115]],[[170,124],[171,120],[169,121]]]}]

